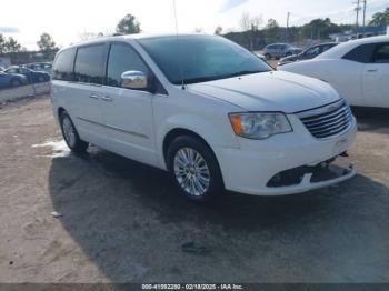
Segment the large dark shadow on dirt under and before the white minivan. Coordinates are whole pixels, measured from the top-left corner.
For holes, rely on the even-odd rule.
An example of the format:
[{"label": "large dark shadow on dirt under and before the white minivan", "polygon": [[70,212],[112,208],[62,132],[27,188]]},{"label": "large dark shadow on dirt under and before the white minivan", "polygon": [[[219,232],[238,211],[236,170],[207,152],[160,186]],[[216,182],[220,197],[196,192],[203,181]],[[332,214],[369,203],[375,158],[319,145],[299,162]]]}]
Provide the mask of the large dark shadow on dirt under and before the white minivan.
[{"label": "large dark shadow on dirt under and before the white minivan", "polygon": [[[382,279],[376,269],[389,262],[389,189],[363,175],[307,194],[226,193],[198,205],[163,171],[92,148],[53,159],[49,191],[63,228],[111,282],[358,281]],[[188,253],[188,242],[207,252]]]}]

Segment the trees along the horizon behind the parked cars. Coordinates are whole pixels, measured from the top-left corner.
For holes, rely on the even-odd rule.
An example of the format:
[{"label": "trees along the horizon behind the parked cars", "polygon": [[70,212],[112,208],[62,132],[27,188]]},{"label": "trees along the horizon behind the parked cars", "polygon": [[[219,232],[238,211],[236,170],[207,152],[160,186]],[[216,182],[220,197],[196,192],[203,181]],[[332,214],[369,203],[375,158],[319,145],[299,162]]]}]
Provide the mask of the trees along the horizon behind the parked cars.
[{"label": "trees along the horizon behind the parked cars", "polygon": [[[372,16],[369,21],[369,26],[389,26],[389,7],[382,11],[377,12]],[[288,41],[299,42],[303,39],[328,39],[332,33],[345,32],[353,28],[352,24],[336,24],[329,18],[313,19],[309,23],[300,27],[281,27],[275,19],[269,19],[263,26],[261,17],[251,17],[249,13],[243,13],[240,19],[241,32],[227,32],[223,33],[222,27],[217,27],[215,34],[223,36],[232,41],[236,41],[251,50],[263,48],[263,46],[273,42]],[[196,28],[196,32],[201,32],[201,28]],[[127,14],[122,18],[114,32],[84,32],[81,39],[99,38],[104,36],[114,34],[133,34],[141,32],[141,24],[137,18],[132,14]],[[46,58],[53,58],[56,52],[59,50],[53,38],[49,33],[42,33],[40,39],[37,41],[39,52]],[[14,38],[6,38],[0,33],[0,56],[9,53],[27,52]]]}]

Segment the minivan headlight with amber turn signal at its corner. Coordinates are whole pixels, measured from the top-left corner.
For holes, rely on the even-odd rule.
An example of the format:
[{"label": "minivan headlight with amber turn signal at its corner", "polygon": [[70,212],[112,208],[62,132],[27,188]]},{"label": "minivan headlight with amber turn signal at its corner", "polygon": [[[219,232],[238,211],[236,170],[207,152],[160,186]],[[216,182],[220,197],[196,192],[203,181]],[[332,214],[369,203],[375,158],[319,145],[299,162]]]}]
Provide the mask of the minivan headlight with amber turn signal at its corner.
[{"label": "minivan headlight with amber turn signal at its corner", "polygon": [[231,113],[229,117],[235,133],[247,139],[262,140],[292,131],[283,113]]}]

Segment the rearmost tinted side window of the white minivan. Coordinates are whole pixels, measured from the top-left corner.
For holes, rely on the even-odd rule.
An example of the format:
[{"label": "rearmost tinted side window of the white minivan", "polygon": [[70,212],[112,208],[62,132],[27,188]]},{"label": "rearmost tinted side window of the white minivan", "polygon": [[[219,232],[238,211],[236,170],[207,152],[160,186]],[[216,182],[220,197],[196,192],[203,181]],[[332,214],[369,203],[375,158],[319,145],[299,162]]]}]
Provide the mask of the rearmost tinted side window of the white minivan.
[{"label": "rearmost tinted side window of the white minivan", "polygon": [[73,64],[76,48],[61,51],[52,67],[52,79],[62,81],[73,81]]}]

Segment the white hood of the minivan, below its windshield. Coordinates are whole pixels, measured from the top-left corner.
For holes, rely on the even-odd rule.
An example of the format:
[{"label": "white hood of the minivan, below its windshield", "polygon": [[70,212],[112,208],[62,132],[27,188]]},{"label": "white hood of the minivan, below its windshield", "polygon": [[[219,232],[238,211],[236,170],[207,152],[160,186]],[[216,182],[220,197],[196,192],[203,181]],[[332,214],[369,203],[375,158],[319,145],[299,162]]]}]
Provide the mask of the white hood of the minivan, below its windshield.
[{"label": "white hood of the minivan, below its windshield", "polygon": [[247,111],[295,113],[339,100],[338,92],[323,81],[280,71],[189,84],[187,88]]}]

